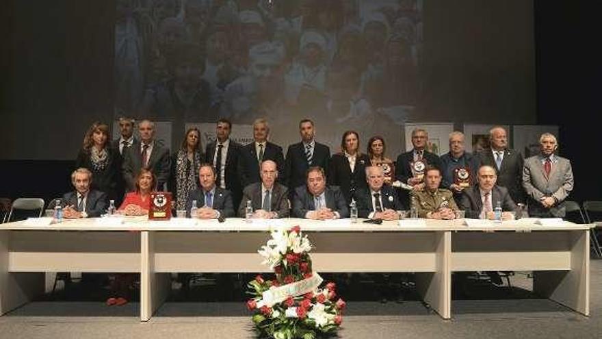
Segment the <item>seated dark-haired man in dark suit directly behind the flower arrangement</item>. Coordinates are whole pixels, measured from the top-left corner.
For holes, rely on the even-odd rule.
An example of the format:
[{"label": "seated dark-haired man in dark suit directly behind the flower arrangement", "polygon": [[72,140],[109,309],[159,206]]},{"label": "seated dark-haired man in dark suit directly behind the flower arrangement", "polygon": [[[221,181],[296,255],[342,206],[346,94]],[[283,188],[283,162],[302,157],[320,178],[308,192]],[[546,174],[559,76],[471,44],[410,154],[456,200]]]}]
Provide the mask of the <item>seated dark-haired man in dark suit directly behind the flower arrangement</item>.
[{"label": "seated dark-haired man in dark suit directly behind the flower arrangement", "polygon": [[349,209],[338,187],[326,186],[326,173],[319,166],[307,170],[307,186],[300,186],[293,197],[293,216],[308,219],[347,218]]}]

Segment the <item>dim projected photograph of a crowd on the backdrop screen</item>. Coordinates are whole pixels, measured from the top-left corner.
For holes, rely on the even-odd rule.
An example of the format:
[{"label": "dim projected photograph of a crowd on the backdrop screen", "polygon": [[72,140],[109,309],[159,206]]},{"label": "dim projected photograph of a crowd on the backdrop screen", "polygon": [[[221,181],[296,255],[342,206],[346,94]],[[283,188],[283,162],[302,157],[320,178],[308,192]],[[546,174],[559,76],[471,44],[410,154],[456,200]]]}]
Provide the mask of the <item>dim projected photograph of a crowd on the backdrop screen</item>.
[{"label": "dim projected photograph of a crowd on the backdrop screen", "polygon": [[[378,130],[420,98],[421,0],[118,0],[115,115],[185,123],[265,117],[272,138]],[[176,133],[177,134],[177,133]]]}]

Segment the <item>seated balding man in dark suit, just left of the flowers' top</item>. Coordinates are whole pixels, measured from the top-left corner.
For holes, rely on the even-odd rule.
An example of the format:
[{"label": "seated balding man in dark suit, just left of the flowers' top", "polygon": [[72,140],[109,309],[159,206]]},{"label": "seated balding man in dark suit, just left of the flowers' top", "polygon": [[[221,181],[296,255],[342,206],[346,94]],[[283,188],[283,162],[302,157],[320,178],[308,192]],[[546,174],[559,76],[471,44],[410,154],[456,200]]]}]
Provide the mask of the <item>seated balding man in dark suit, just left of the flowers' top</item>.
[{"label": "seated balding man in dark suit, just left of the flowers' top", "polygon": [[253,218],[285,218],[289,216],[289,190],[276,183],[278,170],[276,162],[265,160],[261,163],[261,182],[250,184],[242,191],[242,201],[238,215],[245,216],[247,201],[251,201]]}]

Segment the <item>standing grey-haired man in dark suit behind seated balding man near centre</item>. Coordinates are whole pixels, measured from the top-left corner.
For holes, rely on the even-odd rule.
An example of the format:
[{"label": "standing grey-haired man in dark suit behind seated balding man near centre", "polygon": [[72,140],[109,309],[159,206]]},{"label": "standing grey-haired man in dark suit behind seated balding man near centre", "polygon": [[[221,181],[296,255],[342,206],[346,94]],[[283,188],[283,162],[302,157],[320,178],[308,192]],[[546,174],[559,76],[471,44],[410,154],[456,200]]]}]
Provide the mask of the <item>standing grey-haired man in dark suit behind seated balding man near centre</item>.
[{"label": "standing grey-haired man in dark suit behind seated balding man near centre", "polygon": [[265,160],[272,160],[276,164],[276,171],[283,172],[285,157],[282,147],[267,141],[269,135],[270,126],[265,119],[254,121],[253,142],[241,147],[239,153],[240,179],[243,187],[261,181],[259,164]]}]

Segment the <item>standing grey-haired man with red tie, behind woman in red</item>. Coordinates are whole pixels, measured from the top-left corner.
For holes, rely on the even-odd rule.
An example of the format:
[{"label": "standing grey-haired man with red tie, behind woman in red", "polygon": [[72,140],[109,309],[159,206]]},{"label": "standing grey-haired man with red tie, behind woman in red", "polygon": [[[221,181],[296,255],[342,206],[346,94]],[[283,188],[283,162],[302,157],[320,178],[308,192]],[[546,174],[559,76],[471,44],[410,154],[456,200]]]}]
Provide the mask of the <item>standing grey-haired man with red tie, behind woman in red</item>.
[{"label": "standing grey-haired man with red tie, behind woman in red", "polygon": [[155,123],[152,121],[140,121],[138,131],[140,142],[133,142],[123,153],[122,171],[126,190],[135,190],[135,177],[142,168],[148,168],[157,176],[157,189],[163,190],[163,184],[170,175],[169,149],[155,142]]}]

